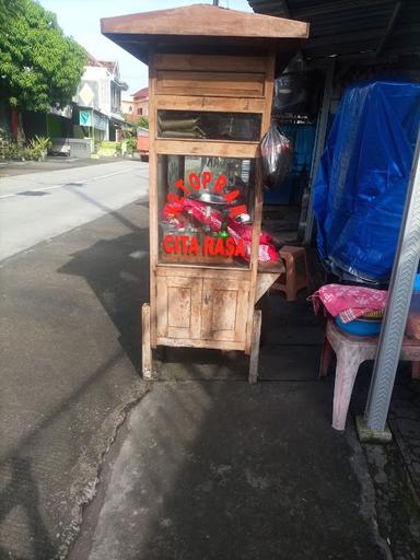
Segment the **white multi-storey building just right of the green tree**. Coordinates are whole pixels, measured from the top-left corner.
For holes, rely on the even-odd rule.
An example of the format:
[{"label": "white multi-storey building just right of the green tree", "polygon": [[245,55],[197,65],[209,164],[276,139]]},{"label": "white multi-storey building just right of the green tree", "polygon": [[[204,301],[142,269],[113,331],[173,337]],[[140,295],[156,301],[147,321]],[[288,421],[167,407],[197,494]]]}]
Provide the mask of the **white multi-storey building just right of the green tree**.
[{"label": "white multi-storey building just right of the green tree", "polygon": [[117,61],[96,60],[89,55],[78,92],[73,97],[73,129],[75,138],[118,140],[124,125],[121,82]]}]

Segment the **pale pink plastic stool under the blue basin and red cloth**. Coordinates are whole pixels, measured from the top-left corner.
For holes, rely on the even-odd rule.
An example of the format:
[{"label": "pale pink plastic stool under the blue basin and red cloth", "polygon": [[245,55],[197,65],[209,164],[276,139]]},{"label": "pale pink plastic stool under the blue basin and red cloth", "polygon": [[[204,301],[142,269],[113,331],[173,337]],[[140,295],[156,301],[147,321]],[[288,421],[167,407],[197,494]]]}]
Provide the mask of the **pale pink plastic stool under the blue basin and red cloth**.
[{"label": "pale pink plastic stool under the blue basin and red cloth", "polygon": [[[374,360],[378,337],[357,337],[341,330],[332,319],[327,323],[319,376],[328,373],[332,350],[337,357],[336,381],[334,385],[332,428],[345,430],[350,398],[359,365]],[[420,378],[420,342],[405,337],[400,360],[412,362],[411,376]]]}]

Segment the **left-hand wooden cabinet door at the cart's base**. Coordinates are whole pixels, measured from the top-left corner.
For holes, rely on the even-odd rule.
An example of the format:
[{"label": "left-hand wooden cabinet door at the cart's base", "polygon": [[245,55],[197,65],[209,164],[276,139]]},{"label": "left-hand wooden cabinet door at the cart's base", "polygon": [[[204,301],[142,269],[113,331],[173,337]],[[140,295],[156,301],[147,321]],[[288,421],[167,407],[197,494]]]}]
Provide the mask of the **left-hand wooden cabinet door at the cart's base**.
[{"label": "left-hand wooden cabinet door at the cart's base", "polygon": [[158,337],[200,338],[202,279],[158,277]]}]

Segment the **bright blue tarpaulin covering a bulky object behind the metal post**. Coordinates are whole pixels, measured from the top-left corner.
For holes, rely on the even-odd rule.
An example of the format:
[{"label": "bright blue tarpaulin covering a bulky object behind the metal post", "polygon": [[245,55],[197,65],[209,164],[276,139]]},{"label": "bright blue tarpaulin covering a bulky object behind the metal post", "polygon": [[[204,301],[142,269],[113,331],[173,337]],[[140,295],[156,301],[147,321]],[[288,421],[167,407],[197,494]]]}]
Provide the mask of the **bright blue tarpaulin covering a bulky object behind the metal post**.
[{"label": "bright blue tarpaulin covering a bulky object behind the metal post", "polygon": [[420,120],[420,84],[349,88],[320,159],[313,196],[325,266],[384,282],[392,271]]}]

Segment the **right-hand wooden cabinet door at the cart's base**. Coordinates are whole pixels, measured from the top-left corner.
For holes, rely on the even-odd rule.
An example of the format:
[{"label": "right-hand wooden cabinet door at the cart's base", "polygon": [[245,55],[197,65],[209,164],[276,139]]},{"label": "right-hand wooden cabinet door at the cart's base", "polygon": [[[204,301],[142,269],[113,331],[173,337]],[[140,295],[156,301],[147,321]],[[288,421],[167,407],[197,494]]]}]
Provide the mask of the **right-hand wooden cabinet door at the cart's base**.
[{"label": "right-hand wooden cabinet door at the cart's base", "polygon": [[245,341],[248,295],[247,281],[205,279],[201,337],[207,340]]}]

